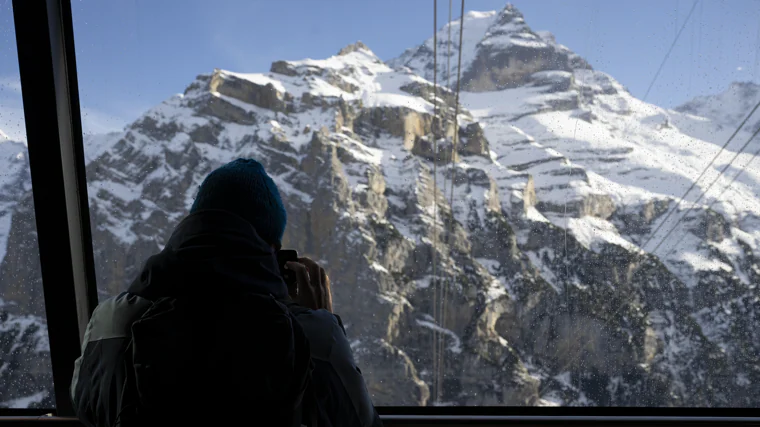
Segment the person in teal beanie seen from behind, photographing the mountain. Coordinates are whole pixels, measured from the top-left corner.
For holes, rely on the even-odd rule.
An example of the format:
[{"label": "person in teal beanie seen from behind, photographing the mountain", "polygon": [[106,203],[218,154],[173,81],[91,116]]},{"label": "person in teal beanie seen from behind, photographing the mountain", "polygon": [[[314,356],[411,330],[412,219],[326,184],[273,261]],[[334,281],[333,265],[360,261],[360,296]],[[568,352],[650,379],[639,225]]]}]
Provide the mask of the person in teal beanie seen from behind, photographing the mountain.
[{"label": "person in teal beanie seen from behind, photographing the mountain", "polygon": [[164,249],[95,309],[70,389],[82,423],[381,425],[325,270],[298,258],[297,286],[283,281],[286,223],[260,163],[211,172]]}]

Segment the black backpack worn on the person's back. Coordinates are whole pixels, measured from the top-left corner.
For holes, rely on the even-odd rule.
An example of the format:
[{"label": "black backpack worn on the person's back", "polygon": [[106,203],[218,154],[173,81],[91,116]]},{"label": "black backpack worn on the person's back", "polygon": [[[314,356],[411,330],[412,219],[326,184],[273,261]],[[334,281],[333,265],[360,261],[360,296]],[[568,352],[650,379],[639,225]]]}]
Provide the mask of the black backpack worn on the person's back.
[{"label": "black backpack worn on the person's back", "polygon": [[157,298],[127,352],[115,425],[317,424],[308,340],[271,295]]}]

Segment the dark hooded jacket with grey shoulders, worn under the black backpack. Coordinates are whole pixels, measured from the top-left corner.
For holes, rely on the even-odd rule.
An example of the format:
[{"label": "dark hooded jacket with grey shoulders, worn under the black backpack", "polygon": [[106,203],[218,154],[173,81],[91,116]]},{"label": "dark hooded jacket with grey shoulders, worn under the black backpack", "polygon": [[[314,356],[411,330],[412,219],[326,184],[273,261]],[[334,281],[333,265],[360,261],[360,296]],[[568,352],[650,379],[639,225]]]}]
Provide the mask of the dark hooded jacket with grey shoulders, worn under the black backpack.
[{"label": "dark hooded jacket with grey shoulders, worn under the black backpack", "polygon": [[[128,399],[125,384],[131,368],[127,349],[131,327],[156,299],[189,294],[209,295],[214,300],[213,295],[241,293],[272,295],[295,315],[309,341],[313,396],[320,419],[326,421],[323,424],[380,425],[340,317],[290,302],[270,247],[248,222],[223,211],[201,211],[185,218],[164,250],[148,259],[128,291],[95,309],[71,384],[80,419],[86,425],[115,425]],[[214,301],[218,304],[219,300]],[[212,339],[218,341],[219,337],[209,337]]]}]

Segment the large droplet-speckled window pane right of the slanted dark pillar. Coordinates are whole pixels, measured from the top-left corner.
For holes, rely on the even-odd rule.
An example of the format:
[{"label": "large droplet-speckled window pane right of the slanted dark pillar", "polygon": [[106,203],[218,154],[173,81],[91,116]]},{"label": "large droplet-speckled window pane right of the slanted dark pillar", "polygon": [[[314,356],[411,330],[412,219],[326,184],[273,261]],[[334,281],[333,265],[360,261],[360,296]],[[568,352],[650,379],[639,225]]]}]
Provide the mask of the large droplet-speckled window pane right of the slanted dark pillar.
[{"label": "large droplet-speckled window pane right of the slanted dark pillar", "polygon": [[252,157],[377,405],[760,406],[760,4],[467,5],[75,2],[101,297]]}]

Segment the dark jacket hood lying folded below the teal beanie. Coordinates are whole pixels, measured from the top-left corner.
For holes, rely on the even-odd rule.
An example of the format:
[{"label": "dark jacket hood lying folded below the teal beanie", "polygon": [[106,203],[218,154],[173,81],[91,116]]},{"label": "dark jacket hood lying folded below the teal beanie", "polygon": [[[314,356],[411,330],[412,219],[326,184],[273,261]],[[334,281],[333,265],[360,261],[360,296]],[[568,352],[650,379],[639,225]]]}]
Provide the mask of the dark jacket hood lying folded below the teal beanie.
[{"label": "dark jacket hood lying folded below the teal beanie", "polygon": [[272,247],[246,220],[221,210],[182,220],[129,287],[148,299],[225,291],[288,297]]}]

